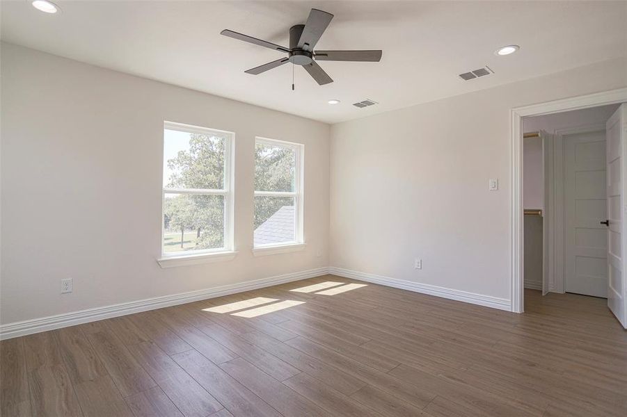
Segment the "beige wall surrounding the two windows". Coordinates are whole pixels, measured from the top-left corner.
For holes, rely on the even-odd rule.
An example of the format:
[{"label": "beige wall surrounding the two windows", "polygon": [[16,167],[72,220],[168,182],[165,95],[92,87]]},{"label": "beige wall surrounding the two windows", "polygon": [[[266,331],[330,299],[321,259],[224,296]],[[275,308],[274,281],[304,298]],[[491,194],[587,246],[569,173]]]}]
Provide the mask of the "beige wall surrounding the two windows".
[{"label": "beige wall surrounding the two windows", "polygon": [[[327,124],[10,44],[1,58],[2,323],[328,265]],[[235,132],[234,261],[155,261],[164,120]],[[302,252],[251,253],[255,135],[305,144]]]}]

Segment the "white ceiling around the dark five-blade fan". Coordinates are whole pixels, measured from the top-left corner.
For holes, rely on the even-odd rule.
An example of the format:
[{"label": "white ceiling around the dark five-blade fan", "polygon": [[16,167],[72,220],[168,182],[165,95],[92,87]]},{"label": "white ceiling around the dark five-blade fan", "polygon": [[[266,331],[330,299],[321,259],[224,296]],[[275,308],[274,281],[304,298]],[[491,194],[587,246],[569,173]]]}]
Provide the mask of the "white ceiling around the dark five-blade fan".
[{"label": "white ceiling around the dark five-blade fan", "polygon": [[[3,41],[129,74],[334,123],[627,55],[627,1],[62,1],[48,15],[1,2]],[[317,49],[383,49],[380,63],[320,62],[319,86],[282,56],[219,35],[224,28],[287,46],[311,8],[335,18]],[[518,53],[493,51],[519,44]],[[461,81],[489,65],[495,74]],[[340,99],[330,106],[328,99]],[[356,108],[364,99],[379,104]]]}]

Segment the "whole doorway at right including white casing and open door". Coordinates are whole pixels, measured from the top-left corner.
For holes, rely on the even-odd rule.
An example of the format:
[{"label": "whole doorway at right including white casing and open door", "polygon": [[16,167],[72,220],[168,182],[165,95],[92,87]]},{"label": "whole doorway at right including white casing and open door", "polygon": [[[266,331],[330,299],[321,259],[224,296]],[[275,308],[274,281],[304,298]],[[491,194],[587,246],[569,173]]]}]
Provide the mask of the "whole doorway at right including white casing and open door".
[{"label": "whole doorway at right including white casing and open door", "polygon": [[608,298],[627,327],[625,102],[621,89],[511,111],[512,311],[525,291]]}]

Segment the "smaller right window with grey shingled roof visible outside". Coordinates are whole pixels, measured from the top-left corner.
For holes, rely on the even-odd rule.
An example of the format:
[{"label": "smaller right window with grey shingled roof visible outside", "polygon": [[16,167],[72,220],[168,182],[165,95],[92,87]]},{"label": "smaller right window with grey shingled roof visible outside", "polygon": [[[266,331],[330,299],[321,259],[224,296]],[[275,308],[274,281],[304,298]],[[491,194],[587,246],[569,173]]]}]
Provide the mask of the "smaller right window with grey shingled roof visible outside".
[{"label": "smaller right window with grey shingled roof visible outside", "polygon": [[254,247],[303,243],[303,145],[255,141]]}]

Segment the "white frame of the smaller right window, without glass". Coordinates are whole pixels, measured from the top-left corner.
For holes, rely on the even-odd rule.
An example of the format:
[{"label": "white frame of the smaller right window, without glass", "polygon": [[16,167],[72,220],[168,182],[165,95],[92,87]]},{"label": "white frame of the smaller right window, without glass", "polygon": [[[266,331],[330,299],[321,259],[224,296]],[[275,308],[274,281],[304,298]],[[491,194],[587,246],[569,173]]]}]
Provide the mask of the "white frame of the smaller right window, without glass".
[{"label": "white frame of the smaller right window, without glass", "polygon": [[[263,256],[269,254],[294,252],[302,250],[305,247],[304,234],[304,211],[305,211],[305,145],[296,142],[287,142],[285,140],[277,140],[270,138],[255,137],[255,148],[257,144],[279,146],[294,150],[294,191],[254,191],[254,197],[294,197],[294,207],[296,215],[294,216],[294,240],[292,242],[268,243],[266,245],[255,246],[253,231],[253,254],[255,256]],[[255,204],[253,203],[253,212]]]}]

